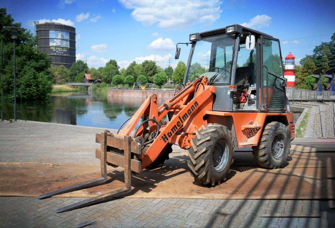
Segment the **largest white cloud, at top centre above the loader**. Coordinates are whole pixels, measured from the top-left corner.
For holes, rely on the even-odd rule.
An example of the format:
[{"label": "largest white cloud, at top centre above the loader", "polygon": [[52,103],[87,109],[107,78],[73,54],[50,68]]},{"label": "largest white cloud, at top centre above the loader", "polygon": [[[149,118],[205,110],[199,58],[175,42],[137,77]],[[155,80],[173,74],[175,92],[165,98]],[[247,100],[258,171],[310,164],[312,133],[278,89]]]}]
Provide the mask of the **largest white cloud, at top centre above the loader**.
[{"label": "largest white cloud, at top centre above the loader", "polygon": [[220,18],[221,2],[215,1],[136,1],[119,0],[127,9],[134,9],[133,18],[145,26],[184,30],[195,24],[209,25]]}]

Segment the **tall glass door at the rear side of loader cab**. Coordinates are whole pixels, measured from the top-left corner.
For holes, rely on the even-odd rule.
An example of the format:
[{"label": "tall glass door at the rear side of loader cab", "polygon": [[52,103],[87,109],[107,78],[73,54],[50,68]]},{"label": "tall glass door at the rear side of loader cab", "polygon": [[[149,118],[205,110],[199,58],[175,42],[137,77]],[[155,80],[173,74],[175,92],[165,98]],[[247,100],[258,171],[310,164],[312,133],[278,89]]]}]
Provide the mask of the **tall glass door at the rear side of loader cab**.
[{"label": "tall glass door at the rear side of loader cab", "polygon": [[285,79],[280,53],[279,40],[261,36],[261,110],[284,111]]}]

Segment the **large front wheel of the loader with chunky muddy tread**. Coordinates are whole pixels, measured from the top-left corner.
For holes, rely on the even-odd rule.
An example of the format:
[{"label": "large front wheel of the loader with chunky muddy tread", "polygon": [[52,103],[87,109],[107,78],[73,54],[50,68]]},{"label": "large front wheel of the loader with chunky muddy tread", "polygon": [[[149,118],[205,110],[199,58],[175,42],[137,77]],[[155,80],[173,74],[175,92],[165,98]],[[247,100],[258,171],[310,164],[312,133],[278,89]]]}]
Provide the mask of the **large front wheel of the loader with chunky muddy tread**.
[{"label": "large front wheel of the loader with chunky muddy tread", "polygon": [[208,124],[196,131],[191,140],[188,166],[196,181],[207,185],[220,185],[230,172],[234,149],[231,132],[226,126]]}]

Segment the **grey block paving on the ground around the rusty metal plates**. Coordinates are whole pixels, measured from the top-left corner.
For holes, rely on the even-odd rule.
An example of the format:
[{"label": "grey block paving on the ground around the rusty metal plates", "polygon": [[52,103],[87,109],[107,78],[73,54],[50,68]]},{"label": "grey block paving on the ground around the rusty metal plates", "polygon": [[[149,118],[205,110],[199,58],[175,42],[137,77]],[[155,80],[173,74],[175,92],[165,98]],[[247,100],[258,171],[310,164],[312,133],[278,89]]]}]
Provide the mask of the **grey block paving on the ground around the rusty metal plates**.
[{"label": "grey block paving on the ground around the rusty metal plates", "polygon": [[[299,145],[309,143],[311,146],[304,146],[303,150],[310,152],[309,148],[318,142],[313,140],[334,137],[333,104],[332,109],[331,105],[314,103],[297,105],[314,107],[306,137],[296,140],[296,144],[295,140],[292,142],[297,151]],[[313,124],[319,119],[333,121],[333,128],[320,124],[319,132],[314,134]],[[105,129],[34,121],[0,122],[0,162],[98,164],[92,151],[96,147],[94,134],[102,130]],[[314,135],[323,138],[312,138]],[[322,151],[327,147],[334,151],[335,146],[331,145]],[[174,147],[172,157],[183,155],[180,152]],[[73,211],[55,212],[60,205],[83,199],[0,197],[0,227],[75,227],[85,221],[92,223],[87,227],[335,227],[333,201],[328,200],[116,198]]]}]

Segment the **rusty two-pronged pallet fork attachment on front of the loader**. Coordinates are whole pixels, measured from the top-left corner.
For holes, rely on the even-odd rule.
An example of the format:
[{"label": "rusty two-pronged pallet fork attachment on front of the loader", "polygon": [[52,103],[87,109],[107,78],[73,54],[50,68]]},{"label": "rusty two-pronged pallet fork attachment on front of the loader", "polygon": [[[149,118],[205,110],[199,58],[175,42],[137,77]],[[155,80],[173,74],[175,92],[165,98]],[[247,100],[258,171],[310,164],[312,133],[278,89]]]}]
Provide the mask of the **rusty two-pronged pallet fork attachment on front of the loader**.
[{"label": "rusty two-pronged pallet fork attachment on front of the loader", "polygon": [[[100,196],[92,197],[56,210],[57,213],[70,211],[76,208],[88,206],[95,204],[104,200],[109,200],[117,196],[129,193],[131,191],[131,171],[136,173],[141,173],[141,161],[131,159],[131,153],[141,153],[141,144],[132,140],[131,136],[125,135],[120,136],[117,134],[110,133],[108,130],[101,132],[101,134],[96,134],[96,142],[101,143],[101,149],[95,150],[95,155],[100,158],[101,166],[101,177],[76,184],[67,188],[59,189],[50,193],[38,196],[39,199],[48,198],[51,196],[59,195],[62,193],[72,192],[78,189],[88,188],[96,186],[100,183],[107,181],[107,163],[118,165],[124,167],[125,176],[125,187],[119,190],[115,190]],[[118,150],[119,152],[124,151],[123,155],[115,154],[107,151],[107,146]],[[135,157],[135,156],[134,156]]]}]

